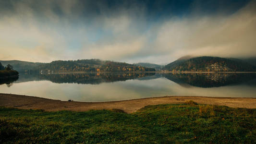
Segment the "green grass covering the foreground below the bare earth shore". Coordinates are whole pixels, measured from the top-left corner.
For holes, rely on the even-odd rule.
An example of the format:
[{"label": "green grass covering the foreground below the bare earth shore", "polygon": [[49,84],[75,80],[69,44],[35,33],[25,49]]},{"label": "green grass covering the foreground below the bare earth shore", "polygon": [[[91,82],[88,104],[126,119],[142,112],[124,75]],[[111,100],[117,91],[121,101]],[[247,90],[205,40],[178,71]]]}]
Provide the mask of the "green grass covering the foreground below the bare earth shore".
[{"label": "green grass covering the foreground below the bare earth shore", "polygon": [[0,143],[256,143],[256,109],[193,103],[116,111],[0,108]]}]

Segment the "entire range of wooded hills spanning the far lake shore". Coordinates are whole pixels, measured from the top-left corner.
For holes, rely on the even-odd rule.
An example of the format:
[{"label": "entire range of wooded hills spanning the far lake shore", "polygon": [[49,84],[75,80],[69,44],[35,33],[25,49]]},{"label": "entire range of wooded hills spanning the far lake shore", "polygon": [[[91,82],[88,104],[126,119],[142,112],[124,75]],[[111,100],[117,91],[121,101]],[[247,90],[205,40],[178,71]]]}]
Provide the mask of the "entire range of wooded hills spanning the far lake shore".
[{"label": "entire range of wooded hills spanning the far lake shore", "polygon": [[[110,60],[56,60],[50,63],[0,60],[18,72],[256,72],[256,59],[184,56],[165,66],[140,62],[129,64]],[[255,64],[255,65],[254,65]]]}]

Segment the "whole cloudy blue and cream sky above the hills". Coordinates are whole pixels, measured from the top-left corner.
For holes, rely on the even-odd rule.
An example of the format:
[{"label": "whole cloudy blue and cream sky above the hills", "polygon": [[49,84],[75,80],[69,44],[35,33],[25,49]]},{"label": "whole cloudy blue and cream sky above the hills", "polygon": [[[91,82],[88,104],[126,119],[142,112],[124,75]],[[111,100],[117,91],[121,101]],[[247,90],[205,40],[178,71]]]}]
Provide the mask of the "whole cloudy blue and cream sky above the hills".
[{"label": "whole cloudy blue and cream sky above the hills", "polygon": [[256,0],[0,0],[0,60],[256,57]]}]

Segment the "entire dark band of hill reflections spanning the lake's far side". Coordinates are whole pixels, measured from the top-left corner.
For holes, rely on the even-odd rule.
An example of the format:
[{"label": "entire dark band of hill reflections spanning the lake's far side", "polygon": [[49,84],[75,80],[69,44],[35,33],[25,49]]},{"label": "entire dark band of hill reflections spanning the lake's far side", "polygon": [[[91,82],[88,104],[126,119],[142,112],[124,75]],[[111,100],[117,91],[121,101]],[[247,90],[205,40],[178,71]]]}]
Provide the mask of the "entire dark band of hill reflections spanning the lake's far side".
[{"label": "entire dark band of hill reflections spanning the lake's far side", "polygon": [[[183,87],[219,87],[230,84],[256,85],[256,73],[56,73],[24,74],[14,83],[47,80],[53,83],[101,84],[130,79],[152,80],[165,77]],[[12,81],[13,82],[13,81]],[[10,84],[5,82],[3,84]]]}]

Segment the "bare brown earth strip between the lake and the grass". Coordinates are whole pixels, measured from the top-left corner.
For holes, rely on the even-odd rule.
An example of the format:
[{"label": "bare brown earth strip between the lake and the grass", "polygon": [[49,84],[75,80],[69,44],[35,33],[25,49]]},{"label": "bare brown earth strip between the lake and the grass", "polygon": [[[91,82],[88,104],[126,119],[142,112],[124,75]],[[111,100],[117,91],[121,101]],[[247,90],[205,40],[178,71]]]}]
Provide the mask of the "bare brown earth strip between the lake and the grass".
[{"label": "bare brown earth strip between the lake and the grass", "polygon": [[87,111],[90,109],[117,108],[127,113],[133,113],[147,105],[181,104],[189,100],[193,100],[199,104],[221,105],[232,108],[256,108],[256,98],[164,96],[111,102],[68,102],[35,96],[0,94],[1,107],[44,109],[46,111]]}]

